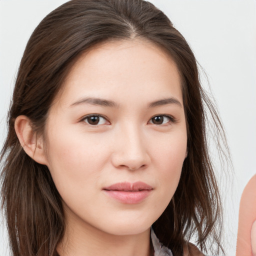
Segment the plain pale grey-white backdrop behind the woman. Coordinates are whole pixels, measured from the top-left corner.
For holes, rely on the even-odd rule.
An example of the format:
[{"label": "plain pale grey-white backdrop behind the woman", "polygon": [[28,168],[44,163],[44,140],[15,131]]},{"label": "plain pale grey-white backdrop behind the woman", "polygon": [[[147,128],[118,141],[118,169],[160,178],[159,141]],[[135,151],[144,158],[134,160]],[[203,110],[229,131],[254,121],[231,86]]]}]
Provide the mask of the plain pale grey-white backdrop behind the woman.
[{"label": "plain pale grey-white backdrop behind the woman", "polygon": [[[0,146],[6,113],[25,44],[39,21],[66,0],[0,0]],[[222,181],[227,255],[234,255],[239,199],[256,173],[256,1],[151,0],[168,15],[203,67],[226,130],[233,172],[216,160]],[[208,82],[202,76],[207,90]],[[224,182],[223,182],[224,179]],[[0,255],[8,255],[4,222]]]}]

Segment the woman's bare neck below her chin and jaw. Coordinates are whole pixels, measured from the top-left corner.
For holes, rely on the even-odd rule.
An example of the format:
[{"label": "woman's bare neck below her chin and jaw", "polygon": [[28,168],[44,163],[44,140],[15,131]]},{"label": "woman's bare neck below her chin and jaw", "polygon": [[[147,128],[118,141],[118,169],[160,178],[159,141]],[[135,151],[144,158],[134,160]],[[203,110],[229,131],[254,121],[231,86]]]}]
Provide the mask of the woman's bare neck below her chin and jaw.
[{"label": "woman's bare neck below her chin and jaw", "polygon": [[[70,220],[70,219],[69,219]],[[114,235],[77,221],[67,221],[57,245],[59,256],[151,256],[150,228],[129,235]]]}]

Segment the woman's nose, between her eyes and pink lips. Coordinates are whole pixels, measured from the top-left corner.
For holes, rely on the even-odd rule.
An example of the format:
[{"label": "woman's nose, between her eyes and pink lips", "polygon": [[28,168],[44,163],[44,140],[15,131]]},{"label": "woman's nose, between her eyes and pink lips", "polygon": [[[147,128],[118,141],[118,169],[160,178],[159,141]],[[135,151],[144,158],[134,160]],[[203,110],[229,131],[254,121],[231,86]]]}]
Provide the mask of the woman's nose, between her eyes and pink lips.
[{"label": "woman's nose, between her eyes and pink lips", "polygon": [[141,129],[135,125],[126,125],[118,131],[111,157],[112,164],[116,168],[137,170],[149,164],[148,148]]}]

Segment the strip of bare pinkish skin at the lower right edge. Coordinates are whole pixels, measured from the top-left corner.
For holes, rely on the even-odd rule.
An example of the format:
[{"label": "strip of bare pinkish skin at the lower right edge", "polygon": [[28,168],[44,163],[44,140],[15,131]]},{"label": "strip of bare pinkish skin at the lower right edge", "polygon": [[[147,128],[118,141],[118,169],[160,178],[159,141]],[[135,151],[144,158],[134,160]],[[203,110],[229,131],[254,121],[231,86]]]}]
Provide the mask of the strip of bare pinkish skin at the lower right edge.
[{"label": "strip of bare pinkish skin at the lower right edge", "polygon": [[256,255],[256,175],[245,186],[239,207],[236,256]]}]

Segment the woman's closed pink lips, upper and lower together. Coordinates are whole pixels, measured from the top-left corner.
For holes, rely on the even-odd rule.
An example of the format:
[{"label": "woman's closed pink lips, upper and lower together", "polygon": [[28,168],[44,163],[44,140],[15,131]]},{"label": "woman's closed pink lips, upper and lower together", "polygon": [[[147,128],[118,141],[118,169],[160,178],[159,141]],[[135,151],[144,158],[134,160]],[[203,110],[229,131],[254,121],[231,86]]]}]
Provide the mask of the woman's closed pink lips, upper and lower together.
[{"label": "woman's closed pink lips, upper and lower together", "polygon": [[103,191],[111,198],[126,204],[143,201],[152,191],[152,187],[144,182],[121,182],[104,187]]}]

